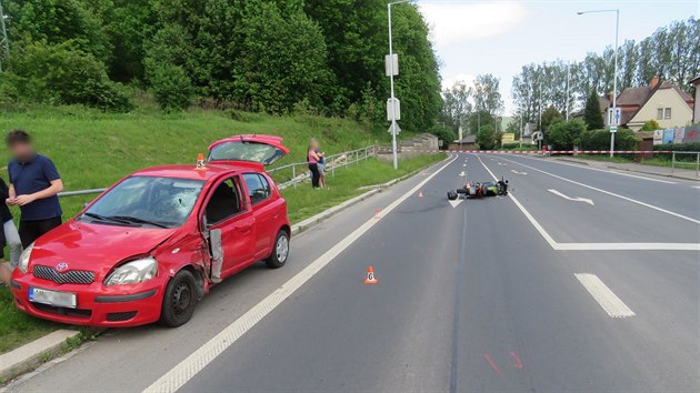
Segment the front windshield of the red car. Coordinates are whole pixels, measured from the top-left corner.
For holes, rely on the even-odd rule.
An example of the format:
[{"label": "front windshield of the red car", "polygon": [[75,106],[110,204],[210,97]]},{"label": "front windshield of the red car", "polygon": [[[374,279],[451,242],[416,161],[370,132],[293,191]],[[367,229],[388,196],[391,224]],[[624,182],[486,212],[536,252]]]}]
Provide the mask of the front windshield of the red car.
[{"label": "front windshield of the red car", "polygon": [[203,184],[199,180],[131,177],[80,219],[111,225],[178,228],[190,215]]}]

